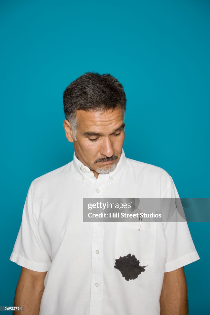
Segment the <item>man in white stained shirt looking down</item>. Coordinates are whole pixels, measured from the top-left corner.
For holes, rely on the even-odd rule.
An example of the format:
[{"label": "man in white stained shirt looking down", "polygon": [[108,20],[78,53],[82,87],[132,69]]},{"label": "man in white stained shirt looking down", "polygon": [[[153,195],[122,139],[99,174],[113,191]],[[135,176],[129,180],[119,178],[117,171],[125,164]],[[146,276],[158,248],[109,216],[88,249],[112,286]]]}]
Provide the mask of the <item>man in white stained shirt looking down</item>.
[{"label": "man in white stained shirt looking down", "polygon": [[83,198],[178,198],[166,171],[125,157],[122,85],[85,73],[63,100],[75,153],[29,187],[10,256],[22,266],[14,305],[27,315],[187,314],[182,267],[199,256],[186,222],[83,222]]}]

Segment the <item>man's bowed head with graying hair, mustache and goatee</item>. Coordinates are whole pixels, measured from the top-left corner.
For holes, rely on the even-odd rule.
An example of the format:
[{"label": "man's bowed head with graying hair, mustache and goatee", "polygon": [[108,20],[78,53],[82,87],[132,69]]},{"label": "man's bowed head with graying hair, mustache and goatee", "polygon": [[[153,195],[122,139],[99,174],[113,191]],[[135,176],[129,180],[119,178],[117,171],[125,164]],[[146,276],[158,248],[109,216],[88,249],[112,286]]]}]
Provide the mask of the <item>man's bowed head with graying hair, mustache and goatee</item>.
[{"label": "man's bowed head with graying hair, mustache and goatee", "polygon": [[98,177],[115,169],[124,141],[126,96],[110,74],[88,72],[63,95],[64,129],[78,159]]}]

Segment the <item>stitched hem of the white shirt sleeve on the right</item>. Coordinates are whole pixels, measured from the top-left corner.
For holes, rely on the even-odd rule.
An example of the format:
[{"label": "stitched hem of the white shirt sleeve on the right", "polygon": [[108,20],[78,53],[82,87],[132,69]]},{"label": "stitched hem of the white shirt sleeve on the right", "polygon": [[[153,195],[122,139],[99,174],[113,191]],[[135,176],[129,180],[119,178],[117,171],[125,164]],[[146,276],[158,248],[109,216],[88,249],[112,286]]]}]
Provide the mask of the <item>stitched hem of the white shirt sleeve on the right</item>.
[{"label": "stitched hem of the white shirt sleeve on the right", "polygon": [[164,272],[170,272],[170,271],[176,270],[178,268],[181,268],[199,259],[200,257],[198,256],[198,253],[195,250],[187,255],[177,258],[174,261],[166,263]]}]

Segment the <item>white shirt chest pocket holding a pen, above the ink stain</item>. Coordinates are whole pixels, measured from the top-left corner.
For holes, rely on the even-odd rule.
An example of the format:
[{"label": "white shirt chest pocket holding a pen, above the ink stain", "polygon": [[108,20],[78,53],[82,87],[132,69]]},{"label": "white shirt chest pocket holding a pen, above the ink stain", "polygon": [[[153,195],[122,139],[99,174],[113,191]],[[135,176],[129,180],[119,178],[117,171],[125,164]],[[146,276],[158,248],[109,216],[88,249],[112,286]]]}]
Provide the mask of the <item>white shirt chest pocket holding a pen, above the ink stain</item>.
[{"label": "white shirt chest pocket holding a pen, above the ink stain", "polygon": [[140,266],[153,264],[155,222],[118,222],[116,227],[115,258],[135,255]]}]

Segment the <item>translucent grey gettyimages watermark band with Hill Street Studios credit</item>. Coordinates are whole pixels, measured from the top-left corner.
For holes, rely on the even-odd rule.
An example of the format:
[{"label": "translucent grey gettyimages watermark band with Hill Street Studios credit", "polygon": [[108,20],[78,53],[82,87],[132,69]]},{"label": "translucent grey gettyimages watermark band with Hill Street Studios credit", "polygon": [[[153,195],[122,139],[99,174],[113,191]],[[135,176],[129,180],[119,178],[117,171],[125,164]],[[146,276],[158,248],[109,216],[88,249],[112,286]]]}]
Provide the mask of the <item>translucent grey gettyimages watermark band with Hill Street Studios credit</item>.
[{"label": "translucent grey gettyimages watermark band with Hill Street Studios credit", "polygon": [[210,198],[83,198],[84,222],[210,222]]}]

